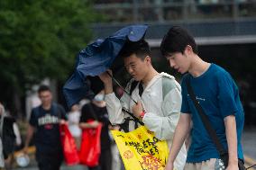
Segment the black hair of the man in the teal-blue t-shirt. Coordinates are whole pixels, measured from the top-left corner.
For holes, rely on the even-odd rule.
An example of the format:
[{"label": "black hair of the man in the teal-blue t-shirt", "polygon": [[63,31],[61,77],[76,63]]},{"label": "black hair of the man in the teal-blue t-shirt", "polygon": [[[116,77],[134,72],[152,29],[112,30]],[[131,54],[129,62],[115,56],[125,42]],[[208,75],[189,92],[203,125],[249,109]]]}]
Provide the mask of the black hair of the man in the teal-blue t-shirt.
[{"label": "black hair of the man in the teal-blue t-shirt", "polygon": [[160,51],[163,56],[169,53],[183,53],[187,45],[191,46],[194,53],[198,53],[197,43],[193,36],[180,26],[173,26],[169,29],[160,43]]}]

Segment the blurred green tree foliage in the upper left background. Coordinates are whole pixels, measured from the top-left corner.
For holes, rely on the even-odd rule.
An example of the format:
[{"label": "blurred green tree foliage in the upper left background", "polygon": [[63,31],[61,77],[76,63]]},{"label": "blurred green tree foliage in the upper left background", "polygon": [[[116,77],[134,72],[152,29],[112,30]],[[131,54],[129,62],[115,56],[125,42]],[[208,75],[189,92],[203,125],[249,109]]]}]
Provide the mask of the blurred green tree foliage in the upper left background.
[{"label": "blurred green tree foliage in the upper left background", "polygon": [[66,79],[98,19],[87,0],[1,0],[1,100],[44,77]]}]

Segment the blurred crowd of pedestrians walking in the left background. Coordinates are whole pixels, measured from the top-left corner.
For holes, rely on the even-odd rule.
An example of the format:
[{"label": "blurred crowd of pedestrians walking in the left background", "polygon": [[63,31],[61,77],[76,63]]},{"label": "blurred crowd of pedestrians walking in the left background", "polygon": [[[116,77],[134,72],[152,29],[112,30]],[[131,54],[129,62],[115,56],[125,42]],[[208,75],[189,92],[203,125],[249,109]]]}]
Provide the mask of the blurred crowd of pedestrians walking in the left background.
[{"label": "blurred crowd of pedestrians walking in the left background", "polygon": [[[96,170],[111,170],[122,168],[121,157],[119,157],[118,149],[111,137],[110,130],[117,130],[117,126],[112,126],[108,121],[108,114],[105,108],[104,91],[97,94],[91,101],[83,100],[71,107],[70,112],[65,112],[64,108],[52,101],[52,93],[48,85],[41,85],[38,89],[38,97],[41,104],[32,109],[29,119],[29,125],[26,130],[26,137],[23,141],[22,152],[28,154],[30,146],[34,145],[35,160],[37,166],[41,170],[58,170],[63,163],[63,153],[60,143],[59,123],[67,123],[69,131],[76,141],[79,150],[81,145],[82,130],[87,128],[96,128],[98,123],[103,123],[101,131],[101,155],[99,166],[87,167]],[[0,103],[0,115],[4,118],[5,107]],[[87,121],[94,121],[87,123]],[[15,146],[22,145],[21,135],[15,120],[11,116],[5,115],[5,133],[14,131]],[[2,127],[2,123],[1,123]],[[11,130],[12,129],[12,130]],[[12,169],[14,164],[14,147],[8,150],[2,145],[2,128],[0,139],[0,169]],[[11,134],[12,135],[12,134]],[[6,138],[5,138],[6,139]],[[114,158],[112,159],[112,157]],[[12,160],[11,160],[12,159]],[[112,163],[114,166],[112,166]]]}]

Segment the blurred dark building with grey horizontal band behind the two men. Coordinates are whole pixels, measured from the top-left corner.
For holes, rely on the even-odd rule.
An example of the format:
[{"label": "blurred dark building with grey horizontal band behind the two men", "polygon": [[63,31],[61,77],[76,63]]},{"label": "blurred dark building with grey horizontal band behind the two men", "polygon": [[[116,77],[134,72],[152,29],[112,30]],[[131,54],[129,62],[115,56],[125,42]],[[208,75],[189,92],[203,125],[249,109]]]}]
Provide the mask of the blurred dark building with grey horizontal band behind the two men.
[{"label": "blurred dark building with grey horizontal band behind the two men", "polygon": [[[240,86],[245,125],[256,122],[256,0],[96,0],[104,16],[92,25],[105,38],[130,24],[149,24],[146,40],[153,64],[170,72],[160,56],[160,40],[173,25],[186,27],[196,38],[200,57],[225,67]],[[121,74],[120,74],[121,75]],[[118,75],[117,75],[118,76]],[[178,77],[178,75],[176,75]],[[122,79],[122,76],[120,76]],[[254,123],[255,124],[255,123]]]}]

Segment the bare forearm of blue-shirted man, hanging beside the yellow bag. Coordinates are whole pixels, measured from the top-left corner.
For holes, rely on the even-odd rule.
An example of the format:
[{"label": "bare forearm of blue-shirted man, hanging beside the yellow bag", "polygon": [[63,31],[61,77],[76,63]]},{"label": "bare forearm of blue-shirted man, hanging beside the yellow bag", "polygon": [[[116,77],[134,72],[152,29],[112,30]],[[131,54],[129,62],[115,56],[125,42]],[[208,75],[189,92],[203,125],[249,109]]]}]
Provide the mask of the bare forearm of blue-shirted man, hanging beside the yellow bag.
[{"label": "bare forearm of blue-shirted man, hanging beside the yellow bag", "polygon": [[191,115],[188,113],[181,113],[180,118],[178,120],[178,125],[174,132],[174,137],[172,140],[172,146],[169,150],[169,158],[166,166],[166,170],[173,169],[173,163],[176,157],[178,156],[178,152],[182,147],[185,139],[187,138],[187,134],[190,130],[190,122]]}]

